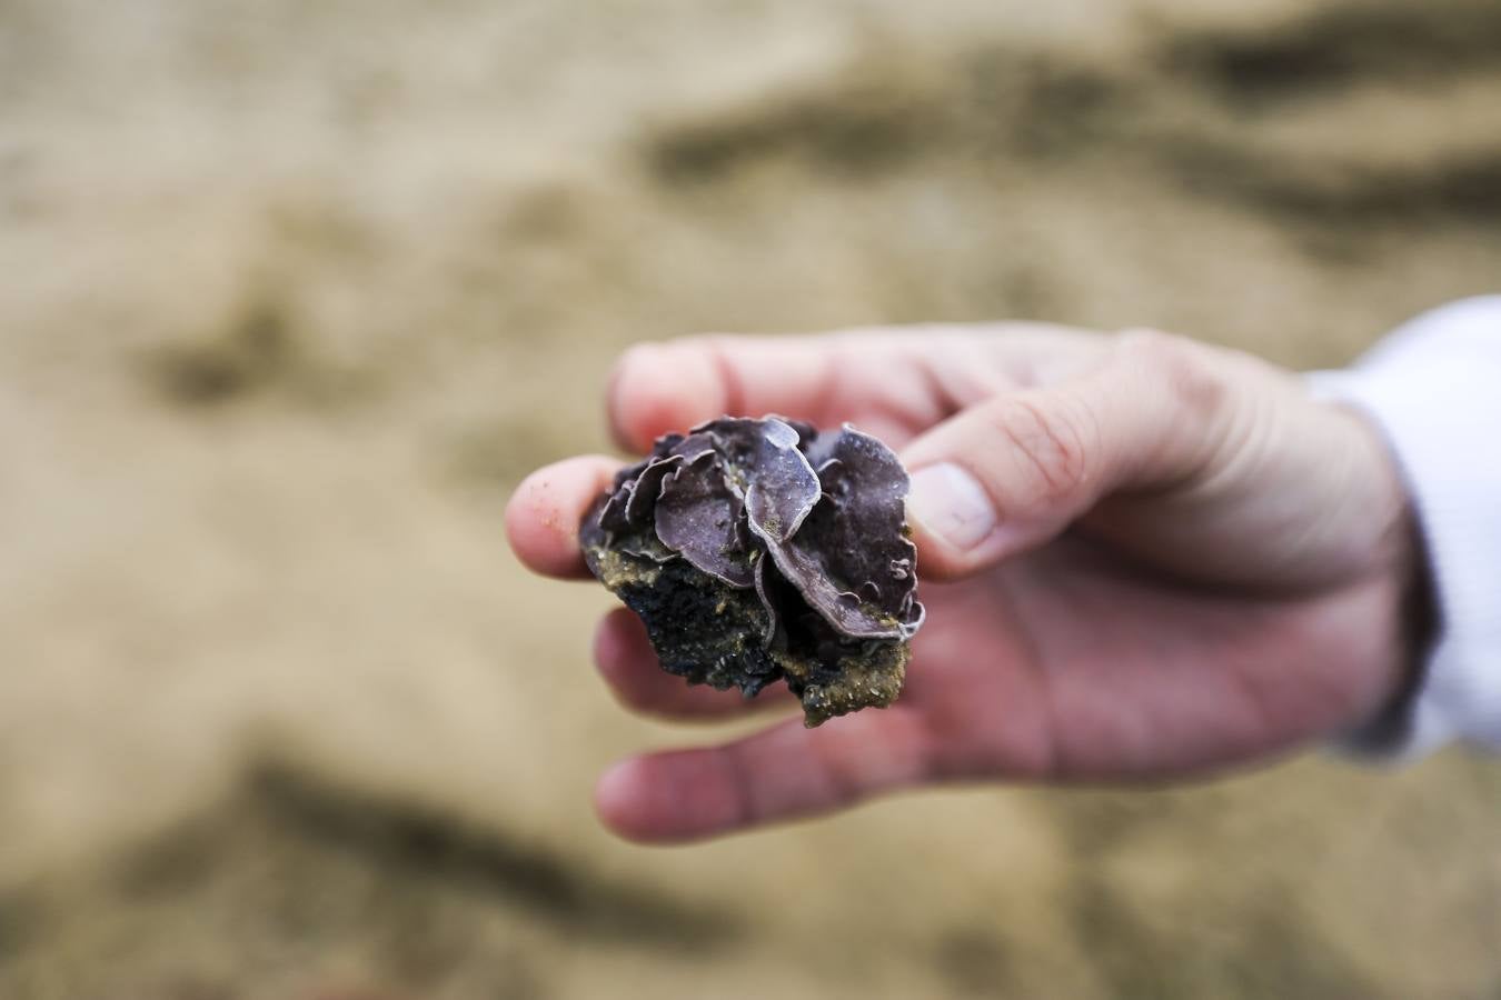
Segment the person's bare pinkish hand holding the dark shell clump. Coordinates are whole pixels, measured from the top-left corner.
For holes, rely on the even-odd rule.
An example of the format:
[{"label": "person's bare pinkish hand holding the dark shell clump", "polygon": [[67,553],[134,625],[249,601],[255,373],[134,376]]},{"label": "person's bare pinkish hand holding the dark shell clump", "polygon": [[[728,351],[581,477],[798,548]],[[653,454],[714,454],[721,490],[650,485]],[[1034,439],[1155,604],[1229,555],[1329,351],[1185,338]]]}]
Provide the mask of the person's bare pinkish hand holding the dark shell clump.
[{"label": "person's bare pinkish hand holding the dark shell clump", "polygon": [[[1211,774],[1369,721],[1411,678],[1420,555],[1391,459],[1249,355],[1022,324],[698,337],[630,349],[608,405],[638,453],[725,412],[880,436],[914,474],[928,606],[890,709],[615,765],[596,804],[623,837],[713,837],[935,783]],[[518,556],[585,579],[576,528],[617,468],[528,477],[506,514]],[[594,655],[656,717],[791,703],[684,687],[624,610]]]}]

